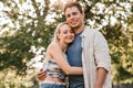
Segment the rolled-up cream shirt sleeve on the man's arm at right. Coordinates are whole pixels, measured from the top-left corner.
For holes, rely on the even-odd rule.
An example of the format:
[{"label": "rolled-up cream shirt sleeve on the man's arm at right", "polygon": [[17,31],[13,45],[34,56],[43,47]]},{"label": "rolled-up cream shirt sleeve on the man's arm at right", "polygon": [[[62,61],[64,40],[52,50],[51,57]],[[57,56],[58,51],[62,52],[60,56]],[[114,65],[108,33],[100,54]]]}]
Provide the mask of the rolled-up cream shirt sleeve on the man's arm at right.
[{"label": "rolled-up cream shirt sleeve on the man's arm at right", "polygon": [[94,56],[96,67],[103,67],[108,72],[110,70],[111,66],[111,56],[109,54],[109,46],[104,36],[96,32],[94,37]]}]

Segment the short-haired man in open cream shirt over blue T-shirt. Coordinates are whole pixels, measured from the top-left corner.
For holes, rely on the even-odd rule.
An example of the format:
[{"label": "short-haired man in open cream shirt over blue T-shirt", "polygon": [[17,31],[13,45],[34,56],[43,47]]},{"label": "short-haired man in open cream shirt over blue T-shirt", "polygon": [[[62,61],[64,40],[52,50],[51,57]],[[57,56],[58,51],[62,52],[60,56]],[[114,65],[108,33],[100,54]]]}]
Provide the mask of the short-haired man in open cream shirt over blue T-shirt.
[{"label": "short-haired man in open cream shirt over blue T-shirt", "polygon": [[[68,62],[83,67],[83,75],[69,76],[69,88],[111,88],[111,58],[104,36],[84,25],[84,12],[79,3],[65,4],[64,14],[75,32],[75,40],[66,51]],[[40,77],[38,74],[43,79]]]}]

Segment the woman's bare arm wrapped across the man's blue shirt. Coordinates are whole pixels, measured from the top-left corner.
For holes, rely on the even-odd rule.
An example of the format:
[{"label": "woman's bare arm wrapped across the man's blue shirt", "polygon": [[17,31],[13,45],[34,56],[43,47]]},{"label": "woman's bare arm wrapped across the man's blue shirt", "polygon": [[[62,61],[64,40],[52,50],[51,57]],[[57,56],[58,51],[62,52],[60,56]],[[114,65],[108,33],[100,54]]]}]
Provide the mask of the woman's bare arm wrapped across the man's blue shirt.
[{"label": "woman's bare arm wrapped across the man's blue shirt", "polygon": [[66,75],[82,75],[82,67],[70,66],[58,44],[51,44],[48,52]]}]

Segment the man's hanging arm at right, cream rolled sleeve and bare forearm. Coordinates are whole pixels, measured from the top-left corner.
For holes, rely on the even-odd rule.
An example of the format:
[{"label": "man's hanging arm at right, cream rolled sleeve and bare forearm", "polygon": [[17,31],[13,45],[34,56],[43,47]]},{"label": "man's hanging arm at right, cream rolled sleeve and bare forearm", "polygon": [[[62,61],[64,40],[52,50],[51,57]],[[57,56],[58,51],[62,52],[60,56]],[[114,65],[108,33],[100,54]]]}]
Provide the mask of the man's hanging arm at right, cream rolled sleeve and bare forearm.
[{"label": "man's hanging arm at right, cream rolled sleeve and bare forearm", "polygon": [[102,33],[98,32],[94,40],[95,46],[95,63],[96,63],[96,80],[94,88],[102,88],[106,79],[106,75],[111,68],[111,57],[109,53],[109,45]]}]

